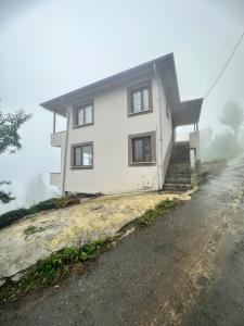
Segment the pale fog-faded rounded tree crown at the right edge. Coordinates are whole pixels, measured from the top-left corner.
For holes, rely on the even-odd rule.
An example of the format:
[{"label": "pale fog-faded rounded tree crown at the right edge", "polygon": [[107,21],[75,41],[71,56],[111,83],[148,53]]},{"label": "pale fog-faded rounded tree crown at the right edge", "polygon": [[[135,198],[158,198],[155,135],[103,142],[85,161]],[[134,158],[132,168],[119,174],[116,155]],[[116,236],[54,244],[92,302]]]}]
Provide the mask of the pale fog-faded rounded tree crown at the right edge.
[{"label": "pale fog-faded rounded tree crown at the right edge", "polygon": [[244,122],[244,110],[243,106],[236,102],[229,102],[223,108],[222,116],[220,122],[232,128],[234,135],[237,137],[240,127]]}]

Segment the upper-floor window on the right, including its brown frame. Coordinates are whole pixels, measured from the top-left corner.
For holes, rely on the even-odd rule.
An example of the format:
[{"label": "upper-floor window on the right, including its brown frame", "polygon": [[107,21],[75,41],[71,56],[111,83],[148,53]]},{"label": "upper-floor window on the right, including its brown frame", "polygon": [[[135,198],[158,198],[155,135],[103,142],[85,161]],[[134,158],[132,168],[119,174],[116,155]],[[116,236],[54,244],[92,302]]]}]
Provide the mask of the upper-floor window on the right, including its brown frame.
[{"label": "upper-floor window on the right, including its brown frame", "polygon": [[151,112],[152,105],[152,84],[151,82],[141,84],[128,89],[128,114],[140,114]]}]

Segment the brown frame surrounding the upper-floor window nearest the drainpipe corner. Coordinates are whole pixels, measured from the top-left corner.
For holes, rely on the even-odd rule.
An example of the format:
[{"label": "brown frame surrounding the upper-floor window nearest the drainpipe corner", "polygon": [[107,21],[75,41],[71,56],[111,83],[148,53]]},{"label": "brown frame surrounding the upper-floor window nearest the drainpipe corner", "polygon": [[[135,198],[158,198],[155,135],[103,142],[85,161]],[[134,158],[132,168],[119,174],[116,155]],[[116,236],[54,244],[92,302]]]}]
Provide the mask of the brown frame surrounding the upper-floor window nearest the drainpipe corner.
[{"label": "brown frame surrounding the upper-floor window nearest the drainpipe corner", "polygon": [[[132,112],[133,109],[133,93],[140,91],[141,93],[141,105],[143,108],[143,90],[149,89],[149,109],[140,112]],[[130,86],[127,88],[127,113],[128,116],[134,116],[145,113],[153,112],[153,93],[152,93],[152,80],[145,80],[143,83]]]}]

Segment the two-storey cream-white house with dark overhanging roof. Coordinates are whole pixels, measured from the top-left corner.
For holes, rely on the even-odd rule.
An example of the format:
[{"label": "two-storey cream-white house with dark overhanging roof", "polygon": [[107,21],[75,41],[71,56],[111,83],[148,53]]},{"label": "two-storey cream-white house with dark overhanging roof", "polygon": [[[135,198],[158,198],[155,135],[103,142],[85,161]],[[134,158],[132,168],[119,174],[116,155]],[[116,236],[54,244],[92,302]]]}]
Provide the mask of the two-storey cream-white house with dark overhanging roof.
[{"label": "two-storey cream-white house with dark overhanging roof", "polygon": [[[191,149],[200,159],[202,102],[180,101],[170,53],[41,103],[54,113],[51,145],[61,148],[61,171],[51,184],[63,193],[156,190],[171,164],[165,188],[189,185],[190,165],[182,168]],[[56,114],[66,117],[65,131],[55,133]],[[190,124],[190,141],[174,145],[176,127]]]}]

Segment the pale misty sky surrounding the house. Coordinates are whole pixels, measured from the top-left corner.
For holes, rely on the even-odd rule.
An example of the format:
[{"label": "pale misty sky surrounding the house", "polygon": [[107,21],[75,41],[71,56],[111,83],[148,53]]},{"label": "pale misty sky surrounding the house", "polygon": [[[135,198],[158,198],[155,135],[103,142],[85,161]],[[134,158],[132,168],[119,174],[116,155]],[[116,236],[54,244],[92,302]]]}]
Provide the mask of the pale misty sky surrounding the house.
[{"label": "pale misty sky surrounding the house", "polygon": [[[181,99],[204,97],[243,30],[244,0],[0,0],[0,110],[34,114],[23,149],[1,155],[1,178],[21,200],[29,179],[59,171],[40,102],[169,52]],[[244,103],[244,42],[204,102],[201,127],[218,128],[229,100]]]}]

